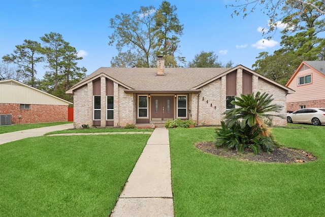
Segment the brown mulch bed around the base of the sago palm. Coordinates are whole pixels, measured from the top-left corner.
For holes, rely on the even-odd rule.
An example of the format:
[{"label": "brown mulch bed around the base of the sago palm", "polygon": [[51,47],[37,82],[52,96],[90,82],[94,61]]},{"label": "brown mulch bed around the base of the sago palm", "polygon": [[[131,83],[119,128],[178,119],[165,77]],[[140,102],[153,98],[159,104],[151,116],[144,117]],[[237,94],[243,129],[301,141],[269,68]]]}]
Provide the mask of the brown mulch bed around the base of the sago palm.
[{"label": "brown mulch bed around the base of the sago palm", "polygon": [[275,148],[272,152],[263,152],[255,155],[252,150],[245,149],[243,153],[238,153],[238,150],[216,147],[213,142],[200,142],[195,145],[198,149],[221,156],[224,158],[237,159],[241,161],[254,161],[263,163],[305,163],[315,161],[317,158],[313,154],[304,150],[288,148],[281,146]]}]

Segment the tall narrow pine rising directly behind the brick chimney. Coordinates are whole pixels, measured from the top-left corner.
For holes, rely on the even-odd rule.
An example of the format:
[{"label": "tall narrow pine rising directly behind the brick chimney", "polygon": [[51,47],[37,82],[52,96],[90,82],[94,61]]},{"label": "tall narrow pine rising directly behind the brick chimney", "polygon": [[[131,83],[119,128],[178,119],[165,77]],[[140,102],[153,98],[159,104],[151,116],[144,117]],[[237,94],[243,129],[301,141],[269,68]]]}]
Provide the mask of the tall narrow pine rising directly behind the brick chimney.
[{"label": "tall narrow pine rising directly behind the brick chimney", "polygon": [[175,56],[180,42],[178,36],[183,35],[184,25],[180,24],[176,14],[176,6],[163,1],[155,14],[158,37],[157,55],[165,56],[165,66],[177,67],[177,60],[185,62],[185,57]]}]

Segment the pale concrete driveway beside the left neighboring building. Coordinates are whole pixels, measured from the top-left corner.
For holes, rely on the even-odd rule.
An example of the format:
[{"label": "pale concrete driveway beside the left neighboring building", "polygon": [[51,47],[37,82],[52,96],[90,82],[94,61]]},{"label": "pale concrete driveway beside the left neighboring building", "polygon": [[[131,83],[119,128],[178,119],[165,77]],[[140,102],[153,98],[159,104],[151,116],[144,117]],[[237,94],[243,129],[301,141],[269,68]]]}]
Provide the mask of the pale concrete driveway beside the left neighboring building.
[{"label": "pale concrete driveway beside the left neighboring building", "polygon": [[44,128],[34,128],[34,129],[16,131],[11,133],[4,133],[4,134],[0,134],[0,145],[7,142],[24,139],[27,137],[43,136],[48,132],[67,130],[67,129],[73,129],[73,123],[67,123],[66,125],[56,125],[56,126],[44,127]]}]

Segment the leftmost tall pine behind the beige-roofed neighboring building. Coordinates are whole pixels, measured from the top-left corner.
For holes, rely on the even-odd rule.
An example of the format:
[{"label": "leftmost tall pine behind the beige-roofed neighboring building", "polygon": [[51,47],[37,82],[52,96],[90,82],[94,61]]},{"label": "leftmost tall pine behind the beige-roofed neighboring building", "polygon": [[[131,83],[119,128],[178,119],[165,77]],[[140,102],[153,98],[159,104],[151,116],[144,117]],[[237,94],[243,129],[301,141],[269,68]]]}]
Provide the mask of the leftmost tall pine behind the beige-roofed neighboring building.
[{"label": "leftmost tall pine behind the beige-roofed neighboring building", "polygon": [[16,45],[14,53],[2,57],[5,63],[13,63],[18,66],[17,73],[22,74],[27,79],[27,84],[36,86],[36,64],[43,61],[39,56],[41,44],[36,41],[24,40],[22,45]]}]

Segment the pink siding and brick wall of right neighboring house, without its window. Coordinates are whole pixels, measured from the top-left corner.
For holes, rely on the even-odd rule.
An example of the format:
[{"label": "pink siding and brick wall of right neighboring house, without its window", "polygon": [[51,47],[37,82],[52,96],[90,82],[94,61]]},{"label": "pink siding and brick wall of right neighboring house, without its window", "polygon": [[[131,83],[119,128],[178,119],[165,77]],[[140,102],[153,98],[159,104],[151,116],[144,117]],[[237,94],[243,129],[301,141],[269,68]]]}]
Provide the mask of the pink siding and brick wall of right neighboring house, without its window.
[{"label": "pink siding and brick wall of right neighboring house, without its window", "polygon": [[[306,69],[306,70],[305,70]],[[311,83],[298,85],[298,77],[305,75],[312,76]],[[287,96],[287,109],[296,111],[300,105],[309,107],[325,107],[325,92],[324,89],[325,76],[308,67],[302,67],[295,75],[288,87],[294,89],[295,94]]]}]

